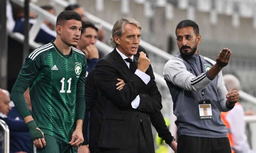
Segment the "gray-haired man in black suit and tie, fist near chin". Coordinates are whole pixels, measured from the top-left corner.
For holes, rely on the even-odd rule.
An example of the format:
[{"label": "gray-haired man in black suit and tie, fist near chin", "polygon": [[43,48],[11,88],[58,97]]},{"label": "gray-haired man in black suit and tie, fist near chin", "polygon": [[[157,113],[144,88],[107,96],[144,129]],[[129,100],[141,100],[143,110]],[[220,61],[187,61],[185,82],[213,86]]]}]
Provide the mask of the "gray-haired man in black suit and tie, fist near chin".
[{"label": "gray-haired man in black suit and tie, fist near chin", "polygon": [[[140,43],[140,29],[140,24],[132,18],[119,19],[112,29],[112,44],[116,48],[95,67],[97,102],[103,108],[98,144],[102,152],[153,153],[150,121],[160,137],[174,150],[177,147],[160,112],[161,95],[150,60],[143,52],[139,59],[133,56]],[[122,90],[116,90],[117,78],[126,83]]]}]

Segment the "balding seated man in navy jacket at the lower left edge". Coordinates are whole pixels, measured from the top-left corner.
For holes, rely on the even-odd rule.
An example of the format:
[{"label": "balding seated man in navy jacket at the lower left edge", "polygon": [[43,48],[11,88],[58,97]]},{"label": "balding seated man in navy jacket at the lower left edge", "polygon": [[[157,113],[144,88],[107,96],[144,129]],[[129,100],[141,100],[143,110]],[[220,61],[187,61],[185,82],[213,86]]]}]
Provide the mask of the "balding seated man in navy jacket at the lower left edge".
[{"label": "balding seated man in navy jacket at the lower left edge", "polygon": [[[13,132],[28,132],[28,127],[23,120],[15,120],[7,116],[9,111],[12,109],[9,105],[10,101],[11,100],[10,100],[9,92],[6,90],[0,89],[0,119],[4,120],[4,122],[8,125],[10,130],[10,135]],[[29,145],[30,145],[30,140],[29,140]],[[10,147],[12,147],[12,144],[10,144]],[[19,151],[27,151],[27,150],[19,150]],[[11,153],[12,153],[12,150],[11,150]]]}]

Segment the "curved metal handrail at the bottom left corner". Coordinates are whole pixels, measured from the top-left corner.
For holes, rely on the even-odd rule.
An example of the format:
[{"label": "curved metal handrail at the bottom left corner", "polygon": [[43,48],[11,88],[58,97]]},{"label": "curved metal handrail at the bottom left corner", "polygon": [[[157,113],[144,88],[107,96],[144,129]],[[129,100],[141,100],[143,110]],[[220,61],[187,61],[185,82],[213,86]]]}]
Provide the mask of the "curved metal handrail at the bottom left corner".
[{"label": "curved metal handrail at the bottom left corner", "polygon": [[2,153],[10,152],[10,130],[8,125],[0,119],[0,126],[3,129]]}]

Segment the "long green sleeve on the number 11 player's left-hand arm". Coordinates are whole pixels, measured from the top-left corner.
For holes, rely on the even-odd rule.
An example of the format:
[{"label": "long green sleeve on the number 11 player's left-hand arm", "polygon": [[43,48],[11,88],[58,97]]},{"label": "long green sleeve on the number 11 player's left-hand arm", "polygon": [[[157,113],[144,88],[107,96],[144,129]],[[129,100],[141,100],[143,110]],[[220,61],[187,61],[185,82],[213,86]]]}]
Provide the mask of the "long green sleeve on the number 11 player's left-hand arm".
[{"label": "long green sleeve on the number 11 player's left-hand arm", "polygon": [[23,93],[28,89],[29,85],[32,84],[38,76],[40,67],[40,57],[35,58],[34,60],[27,57],[16,79],[16,82],[12,87],[11,98],[22,119],[31,115],[28,110],[28,106],[26,104]]}]

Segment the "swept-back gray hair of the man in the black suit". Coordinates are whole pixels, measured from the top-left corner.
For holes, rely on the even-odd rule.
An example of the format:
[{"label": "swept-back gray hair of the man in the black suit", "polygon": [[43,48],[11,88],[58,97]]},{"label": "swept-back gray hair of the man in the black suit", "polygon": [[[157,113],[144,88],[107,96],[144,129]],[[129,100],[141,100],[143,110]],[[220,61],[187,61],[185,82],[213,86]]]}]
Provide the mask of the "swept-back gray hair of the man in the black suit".
[{"label": "swept-back gray hair of the man in the black suit", "polygon": [[114,36],[121,37],[122,34],[124,33],[124,26],[128,23],[137,26],[141,30],[140,23],[136,21],[134,18],[124,17],[124,18],[118,19],[111,31],[110,45],[112,47],[117,47],[117,43],[114,40]]}]

